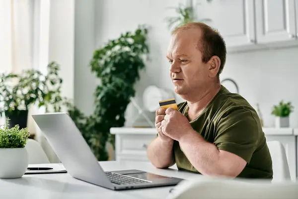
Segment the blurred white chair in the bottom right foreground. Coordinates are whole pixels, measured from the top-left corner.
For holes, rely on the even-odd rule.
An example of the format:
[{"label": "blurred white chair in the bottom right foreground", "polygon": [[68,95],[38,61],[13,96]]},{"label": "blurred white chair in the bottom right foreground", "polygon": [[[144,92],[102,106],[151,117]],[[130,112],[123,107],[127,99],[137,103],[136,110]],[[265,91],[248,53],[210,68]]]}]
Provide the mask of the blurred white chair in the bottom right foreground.
[{"label": "blurred white chair in the bottom right foreground", "polygon": [[179,183],[167,199],[298,199],[298,183],[196,178]]}]

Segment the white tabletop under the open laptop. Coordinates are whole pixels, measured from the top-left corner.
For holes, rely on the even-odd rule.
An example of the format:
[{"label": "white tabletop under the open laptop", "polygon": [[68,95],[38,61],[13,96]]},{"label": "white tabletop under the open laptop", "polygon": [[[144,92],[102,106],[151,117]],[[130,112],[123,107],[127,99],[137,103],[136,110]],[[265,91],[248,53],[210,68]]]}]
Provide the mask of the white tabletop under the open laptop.
[{"label": "white tabletop under the open laptop", "polygon": [[[138,169],[182,179],[201,175],[171,169],[156,169],[150,163],[99,162],[104,171]],[[44,167],[53,164],[39,165]],[[57,165],[56,165],[57,166]],[[32,174],[19,179],[0,179],[0,199],[164,199],[173,187],[112,191],[77,179],[70,174]]]}]

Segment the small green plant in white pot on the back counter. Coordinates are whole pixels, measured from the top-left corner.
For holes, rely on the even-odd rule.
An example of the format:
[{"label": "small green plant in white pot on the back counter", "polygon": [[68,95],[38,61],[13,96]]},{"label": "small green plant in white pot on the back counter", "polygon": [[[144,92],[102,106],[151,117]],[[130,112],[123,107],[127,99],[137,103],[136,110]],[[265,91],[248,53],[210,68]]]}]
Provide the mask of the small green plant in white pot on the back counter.
[{"label": "small green plant in white pot on the back counter", "polygon": [[289,127],[289,115],[293,112],[294,107],[291,102],[284,103],[282,100],[278,105],[273,106],[272,114],[275,115],[275,127]]}]

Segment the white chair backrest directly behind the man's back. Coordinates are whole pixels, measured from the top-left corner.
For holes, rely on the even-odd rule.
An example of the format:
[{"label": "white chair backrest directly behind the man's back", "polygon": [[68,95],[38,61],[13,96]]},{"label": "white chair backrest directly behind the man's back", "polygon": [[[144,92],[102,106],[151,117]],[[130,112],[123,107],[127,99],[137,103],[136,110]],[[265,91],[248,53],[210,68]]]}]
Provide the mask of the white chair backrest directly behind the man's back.
[{"label": "white chair backrest directly behind the man's back", "polygon": [[272,181],[280,182],[291,180],[290,169],[284,145],[279,141],[268,141],[267,145],[272,158]]}]

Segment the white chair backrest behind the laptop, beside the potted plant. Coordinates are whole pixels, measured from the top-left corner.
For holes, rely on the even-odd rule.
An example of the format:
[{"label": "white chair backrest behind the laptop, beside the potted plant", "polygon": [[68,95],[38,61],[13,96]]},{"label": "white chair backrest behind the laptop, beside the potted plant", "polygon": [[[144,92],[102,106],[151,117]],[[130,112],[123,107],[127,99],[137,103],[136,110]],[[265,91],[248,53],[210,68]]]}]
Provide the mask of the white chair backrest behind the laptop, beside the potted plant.
[{"label": "white chair backrest behind the laptop, beside the potted plant", "polygon": [[40,144],[34,139],[28,139],[25,146],[28,156],[29,164],[49,164],[48,156],[40,146]]}]

